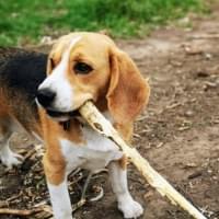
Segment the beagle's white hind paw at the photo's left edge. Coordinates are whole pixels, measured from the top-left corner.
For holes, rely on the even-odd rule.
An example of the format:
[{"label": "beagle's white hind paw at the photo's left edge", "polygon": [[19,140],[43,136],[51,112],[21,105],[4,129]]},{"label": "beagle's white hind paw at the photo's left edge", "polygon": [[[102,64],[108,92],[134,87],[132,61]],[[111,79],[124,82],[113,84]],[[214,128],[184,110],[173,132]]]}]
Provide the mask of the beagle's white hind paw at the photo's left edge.
[{"label": "beagle's white hind paw at the photo's left edge", "polygon": [[5,148],[4,150],[1,150],[0,159],[8,169],[12,169],[22,163],[23,157],[14,153],[10,148]]}]

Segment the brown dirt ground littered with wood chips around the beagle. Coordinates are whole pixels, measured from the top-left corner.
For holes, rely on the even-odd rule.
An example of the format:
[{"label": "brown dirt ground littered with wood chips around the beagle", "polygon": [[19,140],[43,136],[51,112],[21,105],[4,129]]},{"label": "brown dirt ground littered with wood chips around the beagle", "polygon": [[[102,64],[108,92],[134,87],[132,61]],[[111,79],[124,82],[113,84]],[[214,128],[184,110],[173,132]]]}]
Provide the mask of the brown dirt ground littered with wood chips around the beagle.
[{"label": "brown dirt ground littered with wood chips around the beagle", "polygon": [[[168,26],[150,37],[119,41],[120,47],[150,79],[151,97],[135,127],[134,146],[151,165],[171,182],[208,218],[219,218],[219,5],[207,18],[191,16],[191,27]],[[181,21],[183,24],[187,19]],[[25,135],[14,135],[20,152],[33,145]],[[87,172],[70,176],[72,203],[80,197]],[[142,180],[134,166],[128,170],[131,194],[143,208],[143,219],[189,219]],[[96,174],[88,196],[96,186],[104,197],[74,212],[76,219],[122,219],[107,174]],[[41,155],[27,154],[19,169],[0,165],[0,207],[33,208],[49,204]],[[24,217],[0,216],[1,219]],[[48,215],[26,218],[48,218]]]}]

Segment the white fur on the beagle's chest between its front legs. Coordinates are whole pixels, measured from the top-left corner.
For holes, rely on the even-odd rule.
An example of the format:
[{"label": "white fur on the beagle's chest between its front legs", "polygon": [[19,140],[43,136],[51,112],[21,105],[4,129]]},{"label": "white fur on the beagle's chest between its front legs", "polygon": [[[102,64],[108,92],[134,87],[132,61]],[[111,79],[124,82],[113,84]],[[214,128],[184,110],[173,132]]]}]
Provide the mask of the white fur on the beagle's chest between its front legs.
[{"label": "white fur on the beagle's chest between its front legs", "polygon": [[85,143],[77,145],[67,139],[60,139],[68,173],[79,166],[96,171],[105,168],[111,161],[123,157],[123,152],[118,151],[114,142],[90,127],[83,127],[82,132]]}]

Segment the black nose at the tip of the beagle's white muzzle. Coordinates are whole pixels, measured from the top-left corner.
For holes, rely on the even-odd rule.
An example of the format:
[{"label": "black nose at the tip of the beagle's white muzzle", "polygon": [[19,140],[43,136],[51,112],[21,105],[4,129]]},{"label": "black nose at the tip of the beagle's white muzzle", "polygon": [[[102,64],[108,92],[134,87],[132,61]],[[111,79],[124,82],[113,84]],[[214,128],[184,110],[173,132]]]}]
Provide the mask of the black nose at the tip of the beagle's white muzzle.
[{"label": "black nose at the tip of the beagle's white muzzle", "polygon": [[41,89],[37,91],[37,101],[44,107],[50,106],[51,102],[54,101],[56,93],[49,89]]}]

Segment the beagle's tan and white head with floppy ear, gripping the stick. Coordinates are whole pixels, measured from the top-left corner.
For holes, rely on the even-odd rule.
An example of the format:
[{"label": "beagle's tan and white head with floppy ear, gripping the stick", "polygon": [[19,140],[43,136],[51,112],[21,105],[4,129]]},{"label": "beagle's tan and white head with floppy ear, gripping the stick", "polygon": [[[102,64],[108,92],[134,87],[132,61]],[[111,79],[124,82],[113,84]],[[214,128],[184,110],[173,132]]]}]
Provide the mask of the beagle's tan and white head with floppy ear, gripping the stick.
[{"label": "beagle's tan and white head with floppy ear, gripping the stick", "polygon": [[149,85],[127,54],[103,34],[73,33],[54,45],[37,101],[57,120],[88,100],[105,103],[118,123],[132,120],[148,102]]}]

